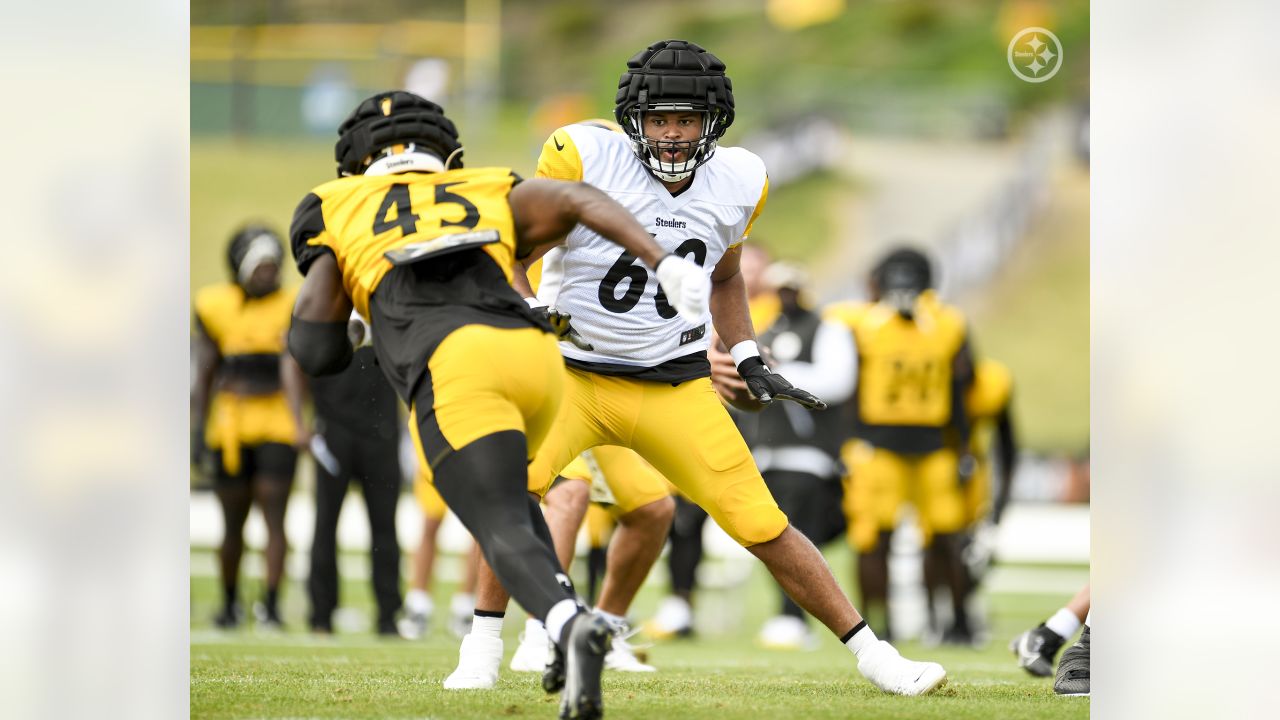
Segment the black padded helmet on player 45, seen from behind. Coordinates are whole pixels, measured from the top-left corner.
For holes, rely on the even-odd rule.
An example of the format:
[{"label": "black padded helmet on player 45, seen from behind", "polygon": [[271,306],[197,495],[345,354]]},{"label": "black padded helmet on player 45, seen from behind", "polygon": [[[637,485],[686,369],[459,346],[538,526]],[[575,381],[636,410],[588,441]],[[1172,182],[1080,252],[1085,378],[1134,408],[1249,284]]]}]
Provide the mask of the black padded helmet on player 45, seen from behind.
[{"label": "black padded helmet on player 45, seen from behind", "polygon": [[364,174],[381,156],[426,152],[440,169],[462,167],[462,145],[453,120],[430,100],[396,90],[366,97],[338,126],[334,159],[338,177]]}]

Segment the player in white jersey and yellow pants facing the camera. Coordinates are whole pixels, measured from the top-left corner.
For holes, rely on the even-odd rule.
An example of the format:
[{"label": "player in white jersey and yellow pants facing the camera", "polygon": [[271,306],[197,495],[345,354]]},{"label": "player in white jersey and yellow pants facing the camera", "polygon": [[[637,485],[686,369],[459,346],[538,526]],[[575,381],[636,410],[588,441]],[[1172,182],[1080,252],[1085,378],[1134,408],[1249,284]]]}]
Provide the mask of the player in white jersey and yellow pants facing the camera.
[{"label": "player in white jersey and yellow pants facing the camera", "polygon": [[[556,131],[538,174],[596,186],[663,249],[701,265],[712,286],[709,313],[668,300],[662,291],[672,287],[666,261],[654,278],[594,232],[570,232],[544,263],[539,304],[568,314],[584,342],[561,342],[564,400],[530,464],[530,492],[544,495],[584,450],[630,447],[764,561],[782,588],[854,652],[876,687],[906,696],[936,689],[946,680],[942,666],[909,661],[876,638],[818,550],[790,527],[708,378],[708,325],[714,322],[759,401],[826,407],[773,373],[755,343],[739,255],[764,206],[768,178],[754,154],[717,150],[733,122],[724,64],[691,42],[655,42],[627,61],[614,117],[625,136],[585,126]],[[481,569],[477,616],[506,609],[504,598],[492,606],[495,584]],[[477,650],[467,644],[460,671],[471,661],[468,650]],[[543,676],[548,692],[562,684],[562,666],[557,653]]]}]

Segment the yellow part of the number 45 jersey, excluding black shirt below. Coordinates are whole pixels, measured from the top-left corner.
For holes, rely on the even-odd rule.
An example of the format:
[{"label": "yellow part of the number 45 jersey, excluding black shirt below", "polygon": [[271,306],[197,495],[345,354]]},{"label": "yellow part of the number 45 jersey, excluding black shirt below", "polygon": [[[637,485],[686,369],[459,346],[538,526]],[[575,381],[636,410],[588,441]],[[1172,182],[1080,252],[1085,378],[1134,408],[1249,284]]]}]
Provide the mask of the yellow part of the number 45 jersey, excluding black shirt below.
[{"label": "yellow part of the number 45 jersey, excluding black shirt below", "polygon": [[[323,252],[333,252],[343,286],[361,315],[392,269],[388,252],[445,254],[449,238],[466,233],[511,282],[516,232],[507,196],[520,182],[508,168],[443,173],[352,176],[326,182],[303,199],[289,232],[298,272]],[[442,240],[443,238],[443,240]]]}]

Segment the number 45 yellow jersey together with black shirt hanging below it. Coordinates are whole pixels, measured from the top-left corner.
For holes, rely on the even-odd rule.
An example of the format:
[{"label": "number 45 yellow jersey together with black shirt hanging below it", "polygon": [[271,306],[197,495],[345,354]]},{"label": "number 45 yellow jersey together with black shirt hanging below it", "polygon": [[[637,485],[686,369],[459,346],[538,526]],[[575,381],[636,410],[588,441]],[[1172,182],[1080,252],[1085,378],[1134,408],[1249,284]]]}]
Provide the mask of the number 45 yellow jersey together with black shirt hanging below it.
[{"label": "number 45 yellow jersey together with black shirt hanging below it", "polygon": [[369,319],[374,348],[406,402],[457,328],[550,328],[511,287],[516,231],[507,168],[339,178],[316,187],[289,238],[303,275],[323,254]]}]

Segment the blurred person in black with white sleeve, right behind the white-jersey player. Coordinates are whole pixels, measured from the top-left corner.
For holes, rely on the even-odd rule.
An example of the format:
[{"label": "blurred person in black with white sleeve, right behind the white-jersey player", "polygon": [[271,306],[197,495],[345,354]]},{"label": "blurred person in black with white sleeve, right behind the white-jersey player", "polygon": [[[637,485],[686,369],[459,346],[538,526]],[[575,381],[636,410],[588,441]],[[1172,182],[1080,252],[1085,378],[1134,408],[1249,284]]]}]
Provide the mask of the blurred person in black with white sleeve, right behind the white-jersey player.
[{"label": "blurred person in black with white sleeve, right behind the white-jersey player", "polygon": [[[840,511],[840,446],[847,437],[837,407],[854,391],[858,356],[849,328],[814,313],[805,290],[808,273],[792,263],[773,263],[765,284],[778,300],[777,316],[759,337],[773,368],[819,395],[831,407],[808,410],[773,404],[760,413],[737,415],[742,436],[769,492],[791,525],[822,547],[845,532]],[[804,610],[785,592],[778,615],[760,628],[765,647],[800,650],[815,638]]]}]

